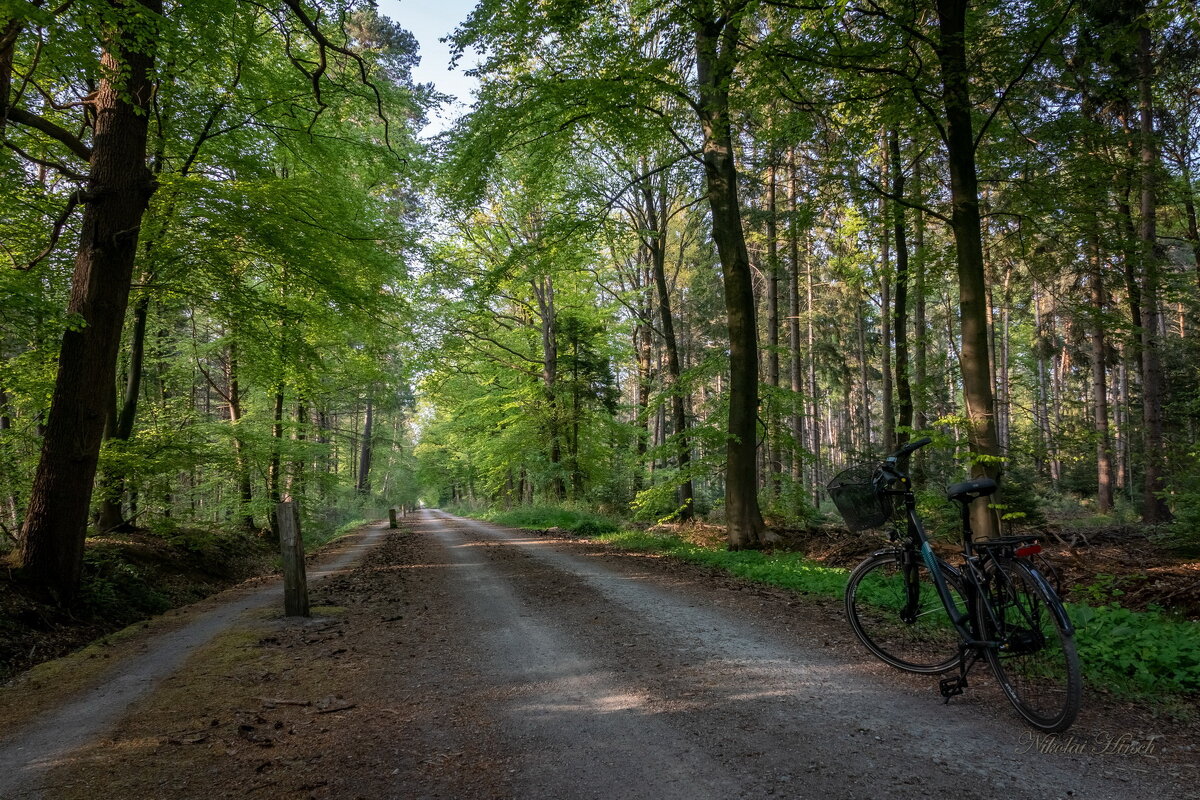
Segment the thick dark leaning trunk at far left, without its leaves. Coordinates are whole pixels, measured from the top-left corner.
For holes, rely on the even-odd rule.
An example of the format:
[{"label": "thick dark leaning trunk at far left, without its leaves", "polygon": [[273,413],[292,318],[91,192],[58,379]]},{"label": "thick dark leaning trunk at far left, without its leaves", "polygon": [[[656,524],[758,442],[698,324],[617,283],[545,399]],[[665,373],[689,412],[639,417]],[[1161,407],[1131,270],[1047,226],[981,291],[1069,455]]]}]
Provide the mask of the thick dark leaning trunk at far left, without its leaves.
[{"label": "thick dark leaning trunk at far left, without its leaves", "polygon": [[[162,13],[161,0],[139,5],[154,16]],[[130,13],[124,2],[113,0],[112,6],[116,19]],[[138,231],[155,191],[146,169],[154,55],[140,29],[131,36],[113,23],[102,40],[103,78],[91,101],[90,174],[67,305],[67,313],[83,324],[62,335],[22,536],[28,575],[64,597],[79,585],[104,404],[116,373]]]}]

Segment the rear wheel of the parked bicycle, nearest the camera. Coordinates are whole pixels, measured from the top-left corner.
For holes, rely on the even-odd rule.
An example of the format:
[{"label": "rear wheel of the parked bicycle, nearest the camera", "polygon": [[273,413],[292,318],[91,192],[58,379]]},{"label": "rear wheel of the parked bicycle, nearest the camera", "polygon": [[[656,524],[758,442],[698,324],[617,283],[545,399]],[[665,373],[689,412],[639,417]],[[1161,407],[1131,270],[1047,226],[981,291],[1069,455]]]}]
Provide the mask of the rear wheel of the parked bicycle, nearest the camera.
[{"label": "rear wheel of the parked bicycle, nearest the camera", "polygon": [[989,565],[988,604],[976,608],[985,650],[1004,696],[1039,730],[1066,730],[1079,714],[1082,693],[1075,638],[1063,627],[1066,612],[1054,589],[1028,566],[1012,559]]}]

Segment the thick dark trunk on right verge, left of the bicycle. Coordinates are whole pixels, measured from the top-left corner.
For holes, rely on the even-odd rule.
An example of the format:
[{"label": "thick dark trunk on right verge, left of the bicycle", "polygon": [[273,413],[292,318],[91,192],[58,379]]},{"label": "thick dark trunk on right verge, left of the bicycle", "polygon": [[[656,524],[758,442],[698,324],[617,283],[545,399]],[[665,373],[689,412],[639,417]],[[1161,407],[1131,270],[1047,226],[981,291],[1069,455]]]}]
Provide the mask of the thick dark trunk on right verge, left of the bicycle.
[{"label": "thick dark trunk on right verge, left of the bicycle", "polygon": [[755,324],[750,255],[742,230],[730,80],[737,60],[744,8],[718,18],[700,4],[696,25],[696,104],[703,132],[704,178],[713,212],[713,241],[721,261],[726,323],[730,329],[730,416],[725,465],[725,519],[730,549],[760,547],[769,537],[758,509],[756,473],[758,420],[758,335]]}]

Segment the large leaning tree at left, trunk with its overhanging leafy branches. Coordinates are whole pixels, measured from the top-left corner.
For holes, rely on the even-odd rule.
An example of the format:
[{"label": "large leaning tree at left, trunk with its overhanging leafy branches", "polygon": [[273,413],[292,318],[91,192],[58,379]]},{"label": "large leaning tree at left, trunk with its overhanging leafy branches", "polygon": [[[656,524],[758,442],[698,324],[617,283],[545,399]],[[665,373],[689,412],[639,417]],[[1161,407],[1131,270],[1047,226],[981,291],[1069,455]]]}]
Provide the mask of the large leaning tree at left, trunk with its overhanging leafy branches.
[{"label": "large leaning tree at left, trunk with its overhanging leafy branches", "polygon": [[[167,127],[180,120],[173,116],[170,103],[185,83],[170,71],[180,61],[210,58],[205,48],[216,46],[214,31],[232,32],[234,52],[241,47],[244,55],[246,48],[263,41],[251,36],[257,35],[254,25],[265,23],[266,30],[274,32],[265,41],[276,46],[277,54],[286,52],[290,56],[290,65],[283,67],[287,72],[276,74],[294,78],[316,103],[311,121],[300,131],[308,137],[320,134],[320,116],[326,112],[332,116],[335,103],[344,108],[347,98],[353,98],[379,121],[384,146],[389,146],[392,134],[383,108],[384,95],[372,83],[372,67],[352,49],[337,24],[344,11],[334,10],[323,18],[292,2],[274,13],[238,5],[170,7],[170,16],[164,17],[162,4],[149,0],[67,4],[55,11],[40,6],[30,4],[24,16],[7,18],[0,37],[5,144],[26,169],[56,175],[43,185],[76,188],[59,190],[62,211],[47,247],[18,266],[35,269],[47,257],[53,258],[60,237],[71,230],[73,212],[82,207],[83,213],[66,309],[68,324],[19,539],[26,573],[65,597],[79,579],[106,421],[113,422],[110,433],[115,439],[127,439],[136,409],[144,301],[137,305],[130,369],[133,393],[122,404],[124,419],[113,410],[110,387],[134,263],[149,260],[156,246],[146,239],[151,197],[168,178],[186,178],[211,139],[253,126],[272,110],[270,100],[263,107],[238,108],[241,83],[256,83],[262,73],[247,61],[236,61],[230,83],[222,88],[226,94],[208,106],[199,128],[187,131],[186,122],[179,128]],[[95,47],[89,46],[90,41]],[[89,64],[88,55],[95,53],[100,54],[98,62]],[[257,102],[263,100],[259,95]],[[287,104],[295,110],[294,100]],[[244,116],[236,116],[236,112]],[[82,130],[83,136],[71,130]],[[276,127],[274,136],[283,130]],[[192,134],[190,142],[180,144],[172,138],[184,131]],[[152,149],[148,146],[151,140]],[[172,191],[160,222],[169,224],[176,198]],[[156,235],[160,233],[156,229]],[[146,275],[154,275],[152,270]],[[277,479],[274,482],[278,485]],[[106,519],[112,522],[119,516],[109,505]]]}]

